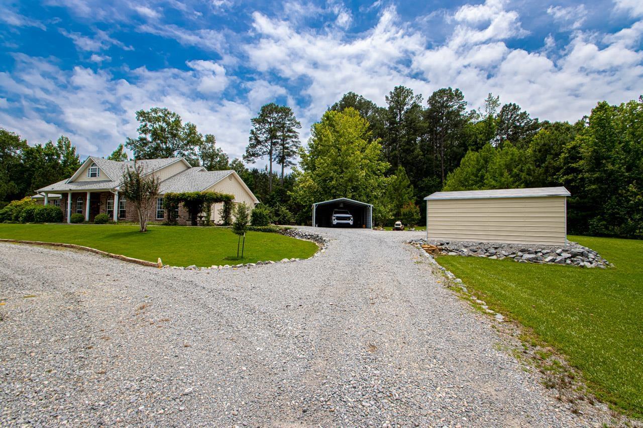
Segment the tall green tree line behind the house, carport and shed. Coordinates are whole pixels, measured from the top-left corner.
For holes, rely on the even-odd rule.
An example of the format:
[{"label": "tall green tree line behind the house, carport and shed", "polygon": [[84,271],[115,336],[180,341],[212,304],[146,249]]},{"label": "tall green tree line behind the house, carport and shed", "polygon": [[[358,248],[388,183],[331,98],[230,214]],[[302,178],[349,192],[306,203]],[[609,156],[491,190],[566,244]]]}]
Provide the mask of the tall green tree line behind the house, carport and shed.
[{"label": "tall green tree line behind the house, carport and shed", "polygon": [[[482,108],[467,109],[462,91],[450,87],[424,102],[397,86],[385,102],[345,94],[312,125],[306,147],[293,111],[266,104],[251,120],[243,161],[230,160],[212,134],[154,107],[136,112],[138,138],[108,158],[125,160],[129,148],[135,159],[184,156],[208,170],[233,169],[267,208],[289,211],[285,218],[292,213],[298,223],[310,221],[312,202],[336,197],[373,203],[380,224],[395,218],[413,224],[423,221],[422,199],[439,190],[566,186],[570,232],[643,235],[641,98],[599,102],[573,124],[539,121],[493,94]],[[65,137],[28,146],[2,130],[0,141],[5,201],[69,177],[79,164]],[[244,165],[260,159],[264,168]]]}]

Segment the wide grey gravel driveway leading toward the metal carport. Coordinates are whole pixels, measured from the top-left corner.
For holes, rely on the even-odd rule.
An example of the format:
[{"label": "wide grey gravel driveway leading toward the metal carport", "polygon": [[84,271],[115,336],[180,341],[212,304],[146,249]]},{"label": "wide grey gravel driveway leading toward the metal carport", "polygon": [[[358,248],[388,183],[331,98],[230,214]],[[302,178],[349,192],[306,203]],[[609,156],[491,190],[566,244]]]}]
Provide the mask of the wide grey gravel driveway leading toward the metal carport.
[{"label": "wide grey gravel driveway leading toward the metal carport", "polygon": [[523,370],[404,240],[324,229],[311,260],[152,269],[0,244],[0,425],[595,424]]}]

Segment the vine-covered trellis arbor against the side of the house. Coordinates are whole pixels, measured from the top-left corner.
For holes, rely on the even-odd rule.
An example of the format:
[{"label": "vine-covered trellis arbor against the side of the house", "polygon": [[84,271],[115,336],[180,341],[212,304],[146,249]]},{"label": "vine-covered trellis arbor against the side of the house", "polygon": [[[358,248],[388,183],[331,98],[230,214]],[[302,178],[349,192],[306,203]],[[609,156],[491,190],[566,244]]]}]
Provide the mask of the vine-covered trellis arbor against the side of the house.
[{"label": "vine-covered trellis arbor against the side of the house", "polygon": [[[204,213],[204,224],[210,226],[210,218],[212,218],[212,205],[223,203],[224,213],[232,211],[233,195],[226,195],[226,193],[218,192],[181,192],[181,193],[165,193],[163,195],[163,209],[167,211],[168,224],[176,224],[177,210],[179,204],[188,211],[190,223],[192,226],[197,225],[197,217],[199,214]],[[224,224],[230,224],[230,217],[223,217]]]}]

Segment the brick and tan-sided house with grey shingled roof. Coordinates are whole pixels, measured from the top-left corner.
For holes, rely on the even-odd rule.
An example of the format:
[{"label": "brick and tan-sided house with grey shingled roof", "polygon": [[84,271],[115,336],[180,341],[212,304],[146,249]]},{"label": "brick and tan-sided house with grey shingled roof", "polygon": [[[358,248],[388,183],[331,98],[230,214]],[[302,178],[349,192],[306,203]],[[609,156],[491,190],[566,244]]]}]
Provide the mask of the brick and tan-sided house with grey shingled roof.
[{"label": "brick and tan-sided house with grey shingled roof", "polygon": [[[239,174],[233,170],[208,171],[203,166],[191,166],[183,157],[145,159],[136,161],[136,165],[141,165],[145,174],[154,174],[159,180],[159,197],[150,221],[165,220],[163,195],[168,192],[226,193],[233,195],[233,204],[246,202],[250,208],[254,208],[259,202]],[[89,156],[74,175],[45,186],[37,192],[42,195],[45,205],[53,202],[60,206],[68,223],[73,213],[83,214],[86,221],[93,221],[96,215],[102,213],[107,214],[114,222],[138,221],[133,204],[119,192],[123,171],[125,168],[133,167],[134,161],[118,162]],[[34,199],[39,197],[36,196]],[[211,219],[215,223],[221,220],[221,206],[222,204],[215,204],[212,210]],[[188,213],[182,205],[179,207],[177,220],[179,224],[188,222]]]}]

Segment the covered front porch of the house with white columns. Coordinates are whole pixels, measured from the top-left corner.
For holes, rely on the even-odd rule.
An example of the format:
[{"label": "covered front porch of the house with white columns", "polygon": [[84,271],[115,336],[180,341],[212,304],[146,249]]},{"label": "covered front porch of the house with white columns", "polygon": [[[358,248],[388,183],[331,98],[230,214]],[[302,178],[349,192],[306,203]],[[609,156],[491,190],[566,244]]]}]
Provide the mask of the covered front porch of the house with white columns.
[{"label": "covered front porch of the house with white columns", "polygon": [[62,198],[50,201],[49,192],[44,192],[44,204],[52,202],[60,206],[63,218],[71,223],[71,215],[78,213],[85,216],[86,222],[91,222],[98,214],[107,214],[110,220],[127,219],[127,201],[118,192],[91,191],[91,192],[57,192]]}]

